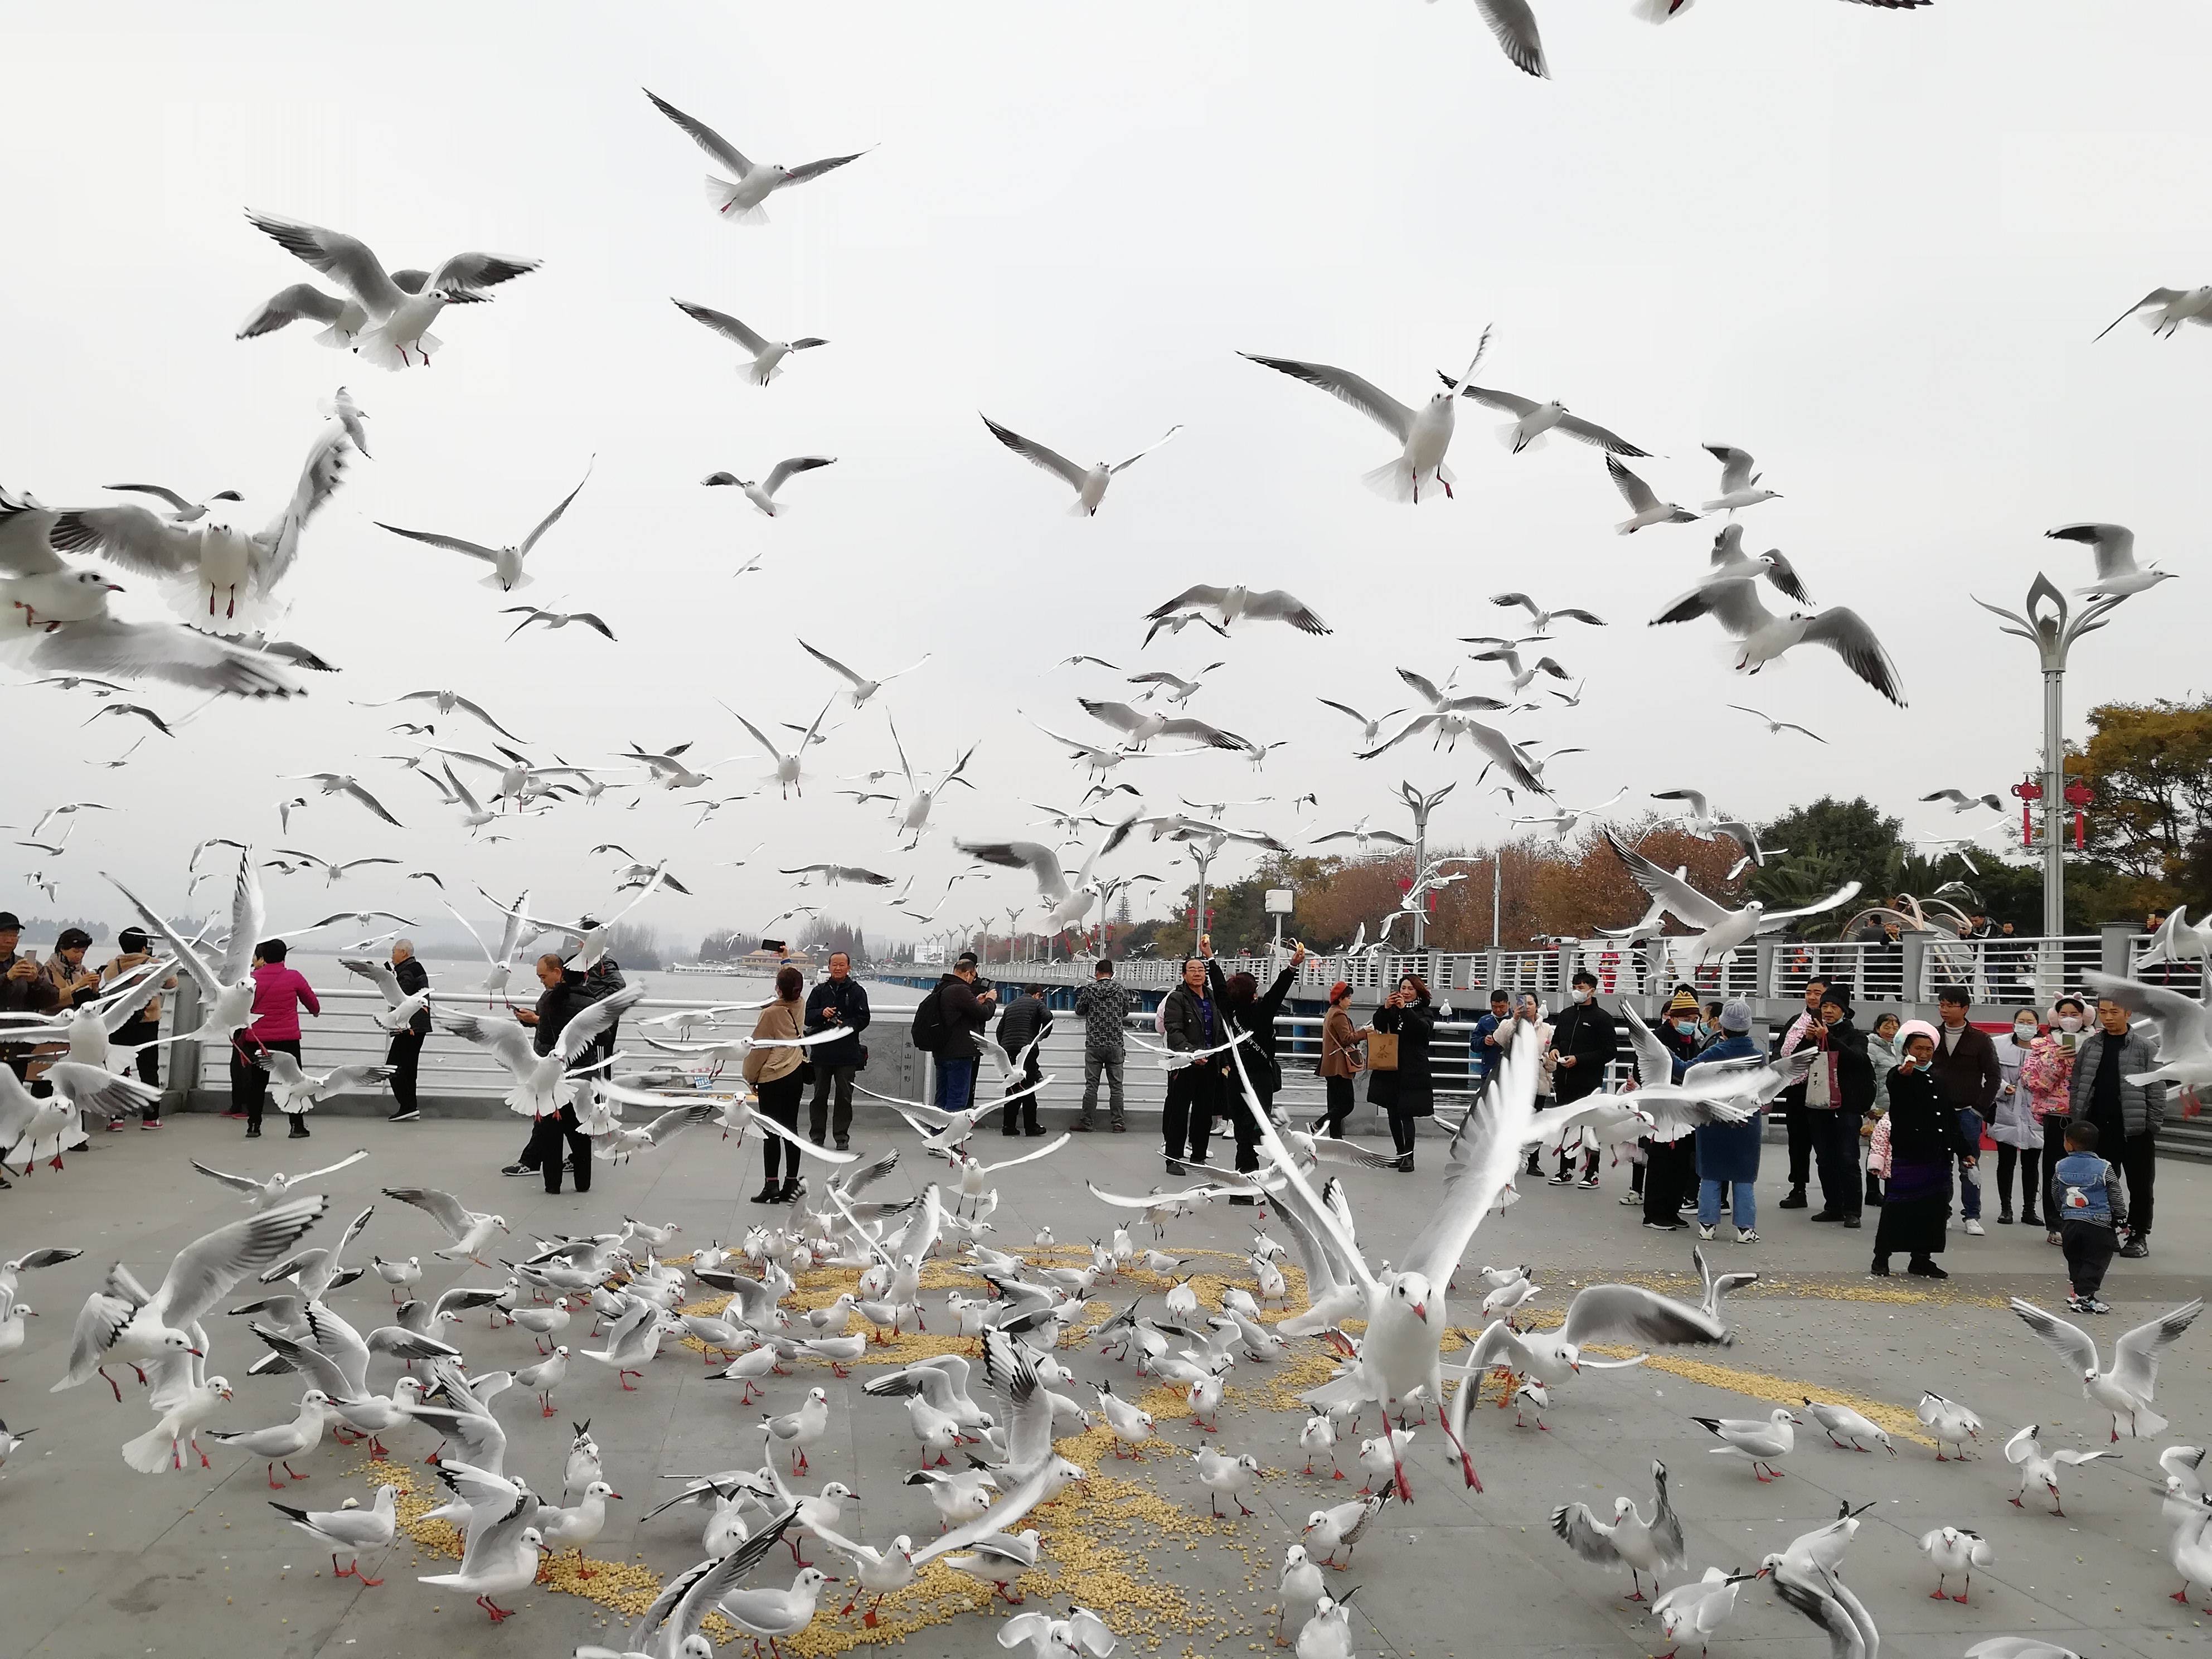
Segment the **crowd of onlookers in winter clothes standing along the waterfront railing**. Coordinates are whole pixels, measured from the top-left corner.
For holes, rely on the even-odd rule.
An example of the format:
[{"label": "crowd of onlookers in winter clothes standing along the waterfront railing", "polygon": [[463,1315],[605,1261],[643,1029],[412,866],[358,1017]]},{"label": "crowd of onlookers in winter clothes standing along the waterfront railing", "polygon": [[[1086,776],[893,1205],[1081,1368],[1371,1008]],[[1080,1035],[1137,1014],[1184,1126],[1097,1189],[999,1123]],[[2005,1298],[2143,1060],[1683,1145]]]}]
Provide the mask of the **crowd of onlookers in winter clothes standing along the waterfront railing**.
[{"label": "crowd of onlookers in winter clothes standing along the waterfront railing", "polygon": [[[1989,949],[2002,951],[2002,938],[1991,938]],[[40,960],[20,947],[18,918],[0,911],[0,1015],[64,1018],[150,960],[146,933],[137,927],[117,933],[115,956],[102,964],[86,962],[91,945],[82,927],[69,927]],[[299,1060],[301,1015],[312,1020],[323,1013],[314,987],[285,958],[283,940],[257,947],[252,1020],[230,1046],[228,1115],[243,1119],[248,1139],[261,1135],[270,1093],[265,1060],[274,1053]],[[1181,982],[1155,1013],[1159,1046],[1188,1055],[1172,1062],[1161,1110],[1161,1152],[1170,1175],[1208,1164],[1217,1126],[1234,1137],[1237,1168],[1259,1168],[1256,1126],[1237,1110],[1237,1062],[1225,1044],[1250,1033],[1241,1044],[1241,1071],[1263,1110],[1274,1113],[1285,1082],[1276,1020],[1303,962],[1305,949],[1296,947],[1265,987],[1252,973],[1223,973],[1210,940],[1201,940],[1199,953],[1183,962]],[[1984,971],[1993,967],[1995,958],[1984,960]],[[392,945],[389,969],[403,993],[429,989],[409,940]],[[611,958],[573,969],[549,953],[538,958],[535,971],[540,995],[513,1018],[531,1031],[540,1055],[553,1051],[582,1009],[626,984]],[[161,1077],[161,998],[175,987],[175,975],[139,982],[128,993],[135,1006],[113,1026],[122,1062],[155,1086]],[[1540,1110],[1573,1106],[1606,1088],[1619,1068],[1626,1033],[1597,991],[1597,975],[1577,971],[1571,1000],[1557,1013],[1526,991],[1478,993],[1484,1011],[1471,1022],[1464,1062],[1453,1055],[1442,1086],[1469,1097],[1478,1093],[1517,1031],[1528,1026],[1542,1055]],[[914,1044],[933,1060],[936,1104],[945,1110],[971,1104],[982,1046],[993,1044],[1015,1071],[1004,1091],[1000,1130],[1009,1137],[1044,1135],[1037,1051],[1053,1033],[1053,1009],[1042,987],[1020,989],[1000,1004],[1002,993],[980,978],[975,956],[960,956],[916,1011]],[[1137,1004],[1137,993],[1115,975],[1113,960],[1095,962],[1093,982],[1075,998],[1084,1088],[1071,1130],[1128,1130],[1128,1026]],[[1909,1274],[1947,1276],[1936,1259],[1944,1254],[1953,1219],[1964,1237],[1986,1237],[1984,1186],[1993,1172],[1997,1225],[2044,1228],[2046,1241],[2064,1250],[2070,1305],[2104,1312],[2099,1290],[2112,1256],[2150,1254],[2168,1091],[2166,1084],[2128,1079],[2154,1068],[2154,1048],[2117,1002],[2062,995],[2051,1009],[2022,1004],[2000,1035],[1971,1024],[1969,1006],[1969,987],[1951,984],[1938,993],[1933,1024],[1902,1020],[1887,1009],[1867,1018],[1849,984],[1814,973],[1805,980],[1803,1009],[1761,1048],[1752,1037],[1750,1004],[1703,1002],[1692,987],[1679,984],[1655,1035],[1672,1057],[1674,1082],[1705,1064],[1812,1051],[1803,1077],[1772,1106],[1785,1126],[1783,1197],[1774,1208],[1805,1212],[1809,1223],[1845,1232],[1863,1230],[1867,1210],[1878,1210],[1874,1274],[1889,1274],[1891,1261],[1905,1256]],[[1343,1137],[1365,1084],[1367,1104],[1389,1126],[1394,1168],[1411,1172],[1418,1124],[1436,1113],[1440,1088],[1438,1022],[1449,1018],[1449,1004],[1440,1006],[1418,973],[1402,975],[1365,1024],[1352,1015],[1352,987],[1332,987],[1318,1057],[1298,1055],[1298,1064],[1314,1066],[1325,1091],[1314,1128]],[[754,1048],[745,1060],[745,1082],[759,1095],[759,1110],[796,1135],[805,1086],[812,1084],[805,1133],[816,1146],[834,1141],[847,1150],[854,1077],[867,1066],[863,1035],[869,1020],[867,989],[843,951],[830,958],[812,989],[799,969],[783,967],[776,995],[761,1009],[752,1035],[841,1035],[810,1048]],[[392,1121],[420,1117],[416,1084],[429,1031],[429,1011],[420,1009],[389,1035]],[[591,1044],[584,1064],[608,1060],[615,1040],[617,1029],[611,1026]],[[38,1091],[40,1071],[64,1051],[66,1044],[53,1040],[13,1042],[0,1044],[0,1060]],[[157,1104],[146,1108],[139,1126],[161,1126]],[[115,1119],[108,1128],[124,1128],[124,1121]],[[310,1135],[301,1113],[290,1115],[290,1135]],[[1701,1239],[1717,1234],[1725,1210],[1736,1241],[1756,1243],[1763,1139],[1763,1113],[1743,1124],[1708,1124],[1672,1141],[1644,1139],[1619,1203],[1639,1208],[1646,1228],[1672,1232],[1694,1225]],[[754,1201],[792,1201],[799,1194],[796,1150],[768,1137],[763,1159],[765,1179]],[[520,1157],[502,1172],[538,1175],[549,1192],[560,1192],[566,1172],[577,1192],[591,1190],[591,1139],[575,1108],[535,1117]],[[1546,1177],[1535,1152],[1526,1175]],[[1548,1181],[1597,1190],[1595,1137],[1564,1137]]]}]

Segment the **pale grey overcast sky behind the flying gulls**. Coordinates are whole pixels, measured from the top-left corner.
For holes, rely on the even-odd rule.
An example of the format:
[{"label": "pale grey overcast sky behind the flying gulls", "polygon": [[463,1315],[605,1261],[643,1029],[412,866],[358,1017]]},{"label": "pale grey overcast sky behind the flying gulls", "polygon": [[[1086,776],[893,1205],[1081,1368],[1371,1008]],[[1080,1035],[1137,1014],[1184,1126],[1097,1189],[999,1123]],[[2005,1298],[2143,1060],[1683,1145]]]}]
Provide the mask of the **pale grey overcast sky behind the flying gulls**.
[{"label": "pale grey overcast sky behind the flying gulls", "polygon": [[[1314,699],[1400,706],[1391,668],[1442,679],[1455,635],[1509,630],[1486,604],[1504,588],[1610,624],[1562,624],[1551,646],[1588,675],[1584,703],[1513,723],[1590,748],[1553,768],[1568,803],[1626,785],[1628,812],[1692,785],[1767,816],[1863,792],[1927,832],[1938,818],[1913,796],[2004,790],[2035,763],[2033,655],[1969,593],[2017,604],[2037,568],[2088,582],[2084,549],[2042,540],[2070,520],[2130,524],[2143,557],[2188,577],[2084,644],[2070,730],[2099,699],[2199,690],[2212,332],[2090,336],[2148,288],[2212,281],[2197,177],[2212,11],[1705,0],[1663,29],[1626,0],[1537,11],[1555,82],[1515,73],[1460,0],[538,0],[400,31],[330,9],[117,4],[95,22],[9,4],[0,484],[58,507],[119,480],[237,487],[259,524],[341,380],[374,447],[288,584],[285,633],[345,670],[312,697],[226,701],[102,772],[82,757],[119,752],[135,726],[82,732],[82,697],[7,692],[9,823],[71,799],[126,807],[80,814],[69,854],[24,869],[60,876],[62,914],[117,911],[100,869],[179,902],[197,838],[279,845],[276,774],[330,768],[358,772],[407,830],[334,801],[294,816],[290,845],[604,914],[606,860],[582,854],[615,838],[695,887],[639,914],[670,942],[757,929],[792,902],[772,863],[916,869],[927,894],[964,863],[953,834],[1035,834],[1024,801],[1079,794],[1022,719],[1108,734],[1075,697],[1133,688],[1053,668],[1077,650],[1130,670],[1223,657],[1192,712],[1290,743],[1259,779],[1234,757],[1126,765],[1155,805],[1274,794],[1232,818],[1290,838],[1316,823],[1287,805],[1305,790],[1338,827],[1387,818],[1400,776],[1464,779],[1438,834],[1482,841],[1509,807],[1471,787],[1464,745],[1360,763],[1352,723]],[[639,86],[754,159],[878,148],[776,195],[772,223],[734,228],[703,201],[706,157]],[[434,367],[385,374],[310,327],[232,338],[312,276],[246,208],[358,234],[392,268],[465,248],[544,268],[447,312]],[[832,345],[754,389],[670,296]],[[1234,356],[1336,363],[1418,400],[1491,325],[1480,380],[1652,449],[1637,467],[1672,500],[1717,493],[1701,442],[1754,451],[1785,500],[1745,513],[1747,546],[1785,549],[1816,602],[1856,606],[1911,708],[1829,653],[1741,681],[1712,624],[1646,628],[1697,577],[1712,526],[1617,538],[1626,509],[1595,451],[1509,456],[1469,405],[1458,500],[1396,507],[1360,484],[1394,451],[1378,427]],[[978,409],[1084,460],[1186,429],[1082,520]],[[783,518],[699,487],[805,451],[838,465],[792,482]],[[502,644],[511,599],[480,588],[478,566],[374,526],[520,540],[593,456],[524,597],[599,611],[617,646],[577,630]],[[754,553],[761,573],[732,582]],[[1141,613],[1190,582],[1292,588],[1334,633],[1190,630],[1139,655]],[[161,615],[144,582],[117,608]],[[834,688],[796,635],[867,672],[933,655],[845,710],[803,801],[770,790],[703,832],[688,796],[626,812],[611,794],[469,845],[427,785],[376,759],[403,752],[383,730],[396,714],[349,703],[453,686],[533,754],[575,763],[692,741],[697,759],[739,757],[717,770],[721,794],[761,763],[714,697],[803,723]],[[1498,688],[1491,666],[1460,681]],[[181,714],[195,699],[148,701]],[[1770,737],[1725,701],[1829,745]],[[834,794],[836,774],[891,763],[885,703],[920,768],[980,743],[980,792],[956,792],[914,856],[878,807]],[[440,737],[491,734],[456,717]],[[750,867],[714,867],[761,841]],[[1219,874],[1248,863],[1223,856]],[[1161,852],[1110,867],[1175,872]],[[325,902],[310,878],[270,891],[272,925]],[[1024,891],[1015,872],[967,883],[940,925]],[[334,896],[440,916],[407,909],[422,883],[356,878]],[[20,878],[0,902],[49,911]],[[827,902],[872,936],[907,931],[849,889]]]}]

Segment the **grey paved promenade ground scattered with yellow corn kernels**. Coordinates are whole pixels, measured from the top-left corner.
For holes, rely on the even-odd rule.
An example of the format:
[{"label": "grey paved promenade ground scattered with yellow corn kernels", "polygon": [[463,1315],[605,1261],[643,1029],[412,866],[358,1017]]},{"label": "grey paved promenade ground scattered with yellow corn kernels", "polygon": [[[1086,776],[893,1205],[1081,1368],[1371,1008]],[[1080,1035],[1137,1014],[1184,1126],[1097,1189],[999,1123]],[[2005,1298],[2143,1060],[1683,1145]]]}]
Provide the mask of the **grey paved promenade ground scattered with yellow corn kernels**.
[{"label": "grey paved promenade ground scattered with yellow corn kernels", "polygon": [[[281,1124],[281,1119],[270,1119]],[[865,1119],[856,1146],[883,1146],[889,1130]],[[900,1130],[905,1137],[905,1130]],[[622,1217],[675,1221],[684,1232],[664,1256],[721,1239],[737,1241],[748,1225],[781,1212],[745,1203],[759,1186],[759,1152],[743,1159],[706,1135],[679,1139],[626,1168],[597,1172],[584,1199],[546,1197],[535,1179],[502,1179],[498,1166],[520,1146],[511,1121],[431,1121],[387,1126],[363,1119],[323,1119],[312,1141],[285,1141],[281,1130],[241,1141],[239,1126],[208,1115],[173,1119],[161,1133],[102,1135],[93,1150],[69,1157],[60,1175],[11,1172],[13,1192],[0,1192],[0,1256],[33,1245],[80,1245],[80,1261],[27,1274],[22,1298],[40,1310],[29,1321],[22,1349],[0,1356],[0,1418],[9,1429],[33,1429],[0,1471],[0,1659],[53,1655],[55,1659],[124,1659],[126,1655],[192,1655],[305,1659],[316,1655],[513,1655],[549,1659],[577,1641],[628,1646],[617,1606],[641,1606],[670,1573],[699,1559],[703,1515],[684,1509],[639,1524],[670,1489],[666,1475],[752,1467],[761,1458],[761,1413],[787,1411],[805,1389],[830,1391],[830,1436],[814,1451],[803,1484],[818,1489],[843,1480],[860,1491],[852,1528],[876,1544],[896,1533],[918,1542],[936,1533],[931,1506],[918,1489],[900,1486],[914,1469],[916,1442],[898,1402],[867,1400],[863,1365],[849,1380],[810,1365],[792,1378],[770,1378],[754,1407],[739,1405],[728,1383],[710,1383],[690,1349],[668,1349],[648,1367],[635,1391],[619,1391],[599,1365],[575,1360],[557,1391],[557,1416],[511,1391],[500,1400],[509,1431],[509,1473],[529,1478],[549,1500],[562,1482],[571,1420],[591,1420],[606,1453],[608,1480],[624,1495],[615,1517],[588,1555],[611,1566],[595,1579],[562,1573],[562,1584],[584,1595],[538,1588],[504,1597],[520,1617],[491,1626],[467,1593],[416,1582],[445,1573],[453,1562],[403,1535],[400,1546],[365,1559],[385,1579],[380,1588],[332,1579],[330,1555],[268,1506],[281,1500],[334,1506],[345,1495],[367,1500],[372,1482],[363,1451],[325,1440],[292,1467],[307,1475],[285,1493],[263,1482],[263,1462],[204,1436],[212,1469],[188,1467],[168,1475],[135,1475],[117,1449],[142,1433],[150,1416],[128,1369],[124,1405],[97,1380],[49,1394],[60,1376],[71,1321],[84,1294],[113,1261],[128,1263],[155,1283],[170,1256],[199,1232],[243,1210],[226,1188],[195,1175],[188,1157],[219,1168],[268,1175],[332,1161],[354,1146],[372,1157],[327,1181],[330,1219],[307,1243],[336,1243],[358,1208],[376,1214],[352,1259],[369,1254],[425,1259],[420,1292],[453,1283],[498,1283],[498,1274],[431,1259],[445,1239],[429,1217],[378,1194],[383,1186],[429,1183],[458,1192],[480,1210],[498,1210],[513,1228],[504,1254],[531,1237],[591,1232],[619,1225]],[[911,1139],[911,1137],[907,1137]],[[1031,1144],[1002,1141],[995,1130],[975,1141],[984,1159]],[[2013,1429],[2042,1425],[2046,1449],[2104,1447],[2108,1418],[2081,1398],[2062,1360],[2035,1343],[2004,1310],[2008,1294],[2024,1294],[2062,1310],[2059,1252],[2039,1230],[2000,1228],[1986,1239],[1953,1234],[1944,1256],[1955,1274],[1944,1285],[1865,1276],[1871,1219],[1865,1232],[1816,1228],[1803,1212],[1772,1210],[1778,1150],[1767,1155],[1761,1188],[1763,1239],[1756,1245],[1714,1243],[1719,1265],[1752,1265],[1767,1283],[1728,1303],[1739,1340],[1728,1349],[1672,1352],[1646,1367],[1586,1371],[1553,1391],[1548,1431],[1515,1429],[1513,1411],[1480,1409],[1471,1449],[1486,1491],[1462,1491],[1447,1478],[1442,1436],[1431,1425],[1416,1433],[1411,1475],[1416,1502],[1389,1506],[1385,1526],[1358,1548],[1352,1571],[1327,1575],[1332,1588],[1363,1586],[1354,1604],[1354,1644],[1360,1655],[1413,1659],[1471,1659],[1478,1652],[1528,1655],[1637,1655],[1666,1652],[1659,1628],[1637,1604],[1624,1601],[1626,1577],[1610,1577],[1555,1540],[1546,1515],[1564,1502],[1588,1502],[1610,1513],[1615,1493],[1650,1504],[1650,1460],[1672,1471],[1674,1502],[1690,1537],[1688,1573],[1708,1564],[1754,1566],[1767,1551],[1834,1517],[1836,1504],[1871,1502],[1851,1553],[1847,1577],[1882,1630],[1882,1648],[1905,1659],[1955,1659],[1971,1641],[1991,1635],[2037,1635],[2086,1657],[2203,1650],[2212,1615],[2168,1599],[2179,1584],[2166,1564],[2159,1522],[2157,1451],[2170,1442],[2203,1444],[2212,1436],[2212,1321],[2201,1323],[2168,1358],[2159,1378],[2159,1407],[2172,1418],[2170,1436],[2119,1444],[2117,1460],[2064,1471],[2066,1515],[2055,1517],[2039,1493],[2024,1511],[2006,1498],[2015,1471],[2000,1455]],[[1347,1177],[1369,1259],[1402,1250],[1440,1186],[1440,1166],[1425,1144],[1416,1175],[1354,1170]],[[887,1186],[905,1190],[922,1170],[911,1157]],[[1164,1183],[1157,1146],[1141,1128],[1113,1137],[1093,1135],[1060,1155],[1000,1177],[998,1241],[1022,1248],[1042,1225],[1062,1243],[1102,1237],[1113,1214],[1084,1192],[1084,1179],[1130,1192]],[[1615,1199],[1628,1168],[1604,1170],[1599,1192],[1528,1183],[1522,1201],[1484,1223],[1471,1259],[1526,1261],[1544,1294],[1531,1312],[1564,1310],[1577,1285],[1632,1276],[1670,1283],[1694,1298],[1690,1274],[1694,1232],[1655,1234],[1637,1212]],[[2166,1161],[2159,1170],[2157,1254],[2115,1263],[2108,1296],[2115,1314],[2095,1325],[2110,1340],[2172,1303],[2205,1290],[2203,1263],[2212,1245],[2208,1201],[2212,1170]],[[1252,1212],[1214,1206],[1170,1228],[1168,1250],[1237,1252],[1250,1239]],[[1281,1230],[1279,1230],[1281,1237]],[[1139,1230],[1139,1239],[1144,1230]],[[1723,1234],[1725,1239],[1725,1234]],[[1066,1256],[1062,1256],[1066,1259]],[[1243,1279],[1230,1254],[1192,1256],[1201,1290],[1217,1294],[1219,1279]],[[1674,1279],[1659,1279],[1674,1274]],[[823,1303],[832,1281],[810,1279],[805,1301]],[[960,1283],[931,1270],[931,1283]],[[1148,1307],[1159,1307],[1166,1281],[1144,1279]],[[1104,1287],[1102,1301],[1126,1305],[1139,1281]],[[248,1301],[243,1290],[226,1307]],[[940,1332],[942,1290],[925,1292],[931,1332]],[[389,1314],[383,1281],[367,1274],[336,1292],[332,1305],[367,1329]],[[1475,1294],[1453,1298],[1455,1323],[1469,1323]],[[228,1376],[237,1398],[210,1427],[250,1429],[292,1416],[299,1378],[248,1378],[259,1343],[243,1318],[212,1318],[215,1371]],[[586,1340],[588,1321],[575,1321],[564,1340]],[[533,1363],[531,1338],[520,1327],[487,1329],[478,1314],[456,1327],[471,1369]],[[914,1354],[942,1347],[938,1336],[909,1345]],[[1267,1467],[1250,1520],[1208,1517],[1190,1449],[1201,1433],[1183,1407],[1130,1367],[1088,1352],[1064,1354],[1077,1383],[1064,1391],[1091,1398],[1093,1378],[1110,1378],[1146,1400],[1161,1418],[1159,1440],[1170,1455],[1139,1467],[1117,1462],[1102,1436],[1077,1436],[1064,1451],[1093,1471],[1060,1504],[1042,1511],[1044,1564],[1024,1579],[1033,1606],[1066,1608],[1068,1599],[1099,1606],[1126,1632],[1126,1652],[1223,1655],[1272,1652],[1274,1579],[1283,1546],[1318,1504],[1345,1500],[1358,1486],[1354,1447],[1343,1447],[1352,1480],[1298,1473],[1301,1413],[1285,1409],[1292,1385],[1325,1376],[1318,1343],[1292,1345],[1274,1365],[1239,1365],[1221,1433],[1230,1451],[1252,1451]],[[389,1383],[389,1363],[376,1363],[374,1383]],[[980,1387],[980,1380],[978,1380]],[[1922,1389],[1953,1396],[1980,1411],[1986,1431],[1969,1462],[1936,1462],[1933,1447],[1907,1433],[1907,1416]],[[1783,1460],[1785,1480],[1759,1484],[1741,1460],[1708,1455],[1712,1438],[1692,1416],[1750,1418],[1798,1396],[1849,1396],[1860,1409],[1896,1425],[1896,1458],[1836,1451],[1812,1429]],[[1885,1407],[1889,1411],[1885,1411]],[[1374,1433],[1374,1420],[1363,1425]],[[389,1440],[396,1467],[420,1486],[420,1458],[431,1449],[422,1433]],[[281,1478],[281,1471],[279,1471]],[[1995,1546],[1995,1564],[1975,1573],[1973,1604],[1929,1599],[1936,1573],[1916,1548],[1931,1526],[1973,1526]],[[823,1557],[836,1571],[834,1557]],[[790,1555],[776,1553],[757,1582],[787,1584]],[[982,1655],[993,1644],[998,1613],[971,1610],[982,1593],[958,1575],[933,1571],[876,1630],[860,1615],[834,1617],[849,1586],[825,1593],[823,1617],[796,1644],[796,1655],[830,1655],[856,1644],[902,1637],[914,1655]],[[1958,1588],[1955,1584],[1951,1588]],[[2197,1586],[2197,1601],[2212,1590]],[[611,1626],[613,1621],[613,1626]],[[1694,1652],[1694,1641],[1683,1652]],[[743,1648],[730,1648],[743,1652]],[[1712,1644],[1717,1659],[1816,1659],[1825,1639],[1778,1604],[1767,1584],[1745,1586],[1739,1613]]]}]

